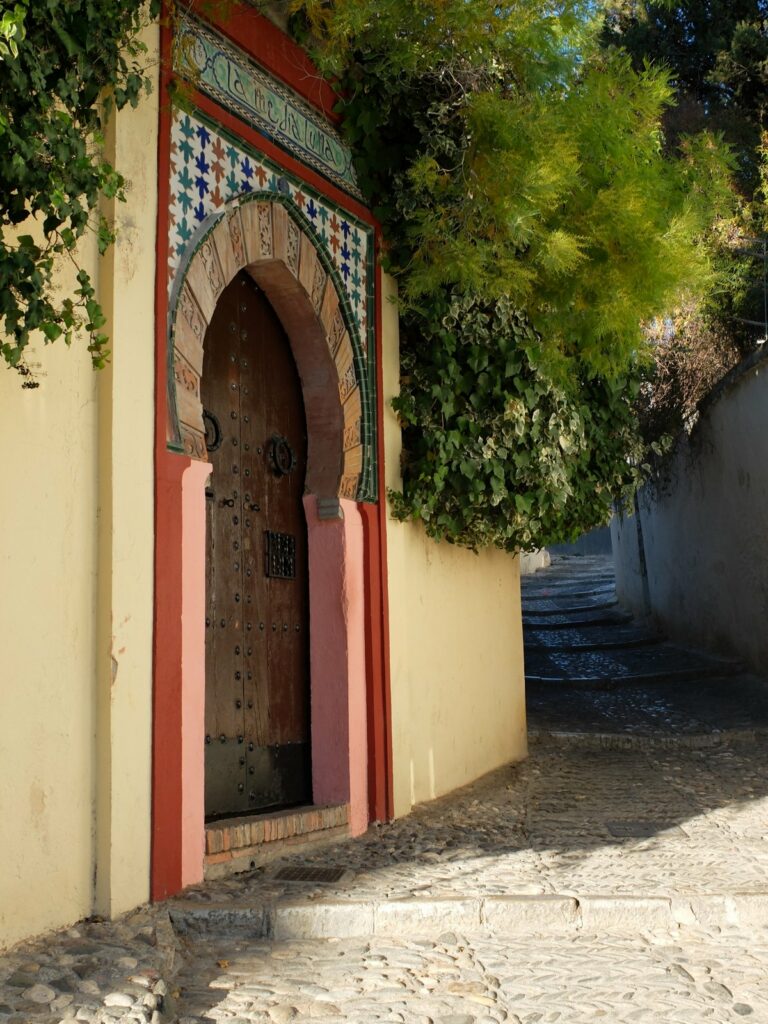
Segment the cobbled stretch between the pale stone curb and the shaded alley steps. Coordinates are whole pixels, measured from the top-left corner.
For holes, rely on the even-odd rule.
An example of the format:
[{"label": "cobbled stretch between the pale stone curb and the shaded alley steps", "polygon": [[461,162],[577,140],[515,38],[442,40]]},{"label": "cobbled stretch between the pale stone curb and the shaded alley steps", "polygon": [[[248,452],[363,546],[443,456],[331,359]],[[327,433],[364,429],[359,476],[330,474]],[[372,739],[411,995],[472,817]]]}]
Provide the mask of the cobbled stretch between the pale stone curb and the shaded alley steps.
[{"label": "cobbled stretch between the pale stone curb and the shaded alley steps", "polygon": [[[281,862],[338,865],[351,872],[347,881],[281,883],[267,867],[190,890],[186,899],[768,891],[766,764],[762,739],[705,750],[537,743],[522,764],[408,818]],[[627,823],[646,835],[614,835]]]}]

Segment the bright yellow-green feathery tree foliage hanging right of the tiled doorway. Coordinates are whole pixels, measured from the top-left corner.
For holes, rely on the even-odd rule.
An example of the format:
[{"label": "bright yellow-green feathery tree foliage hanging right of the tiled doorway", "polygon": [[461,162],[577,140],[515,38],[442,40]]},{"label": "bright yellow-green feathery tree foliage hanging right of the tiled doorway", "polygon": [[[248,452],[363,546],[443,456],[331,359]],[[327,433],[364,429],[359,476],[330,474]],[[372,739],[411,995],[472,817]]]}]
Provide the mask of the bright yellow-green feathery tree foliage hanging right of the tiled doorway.
[{"label": "bright yellow-green feathery tree foliage hanging right of the tiled doorway", "polygon": [[664,158],[668,77],[596,51],[583,6],[304,6],[407,302],[507,295],[554,359],[612,373],[643,319],[708,283],[693,241],[728,208],[727,159],[709,137]]}]

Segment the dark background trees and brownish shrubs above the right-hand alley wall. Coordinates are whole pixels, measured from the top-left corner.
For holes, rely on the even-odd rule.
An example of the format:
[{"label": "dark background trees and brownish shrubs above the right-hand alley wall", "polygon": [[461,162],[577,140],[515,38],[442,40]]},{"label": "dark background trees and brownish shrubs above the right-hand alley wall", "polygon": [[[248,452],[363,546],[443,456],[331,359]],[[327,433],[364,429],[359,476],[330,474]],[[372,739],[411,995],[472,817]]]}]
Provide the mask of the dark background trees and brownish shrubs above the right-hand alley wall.
[{"label": "dark background trees and brownish shrubs above the right-hand alley wall", "polygon": [[655,330],[655,372],[643,389],[646,438],[677,432],[730,366],[765,337],[768,0],[612,0],[603,42],[635,68],[667,69],[676,102],[664,117],[674,153],[692,131],[722,132],[735,155],[734,216],[709,238],[719,287]]}]

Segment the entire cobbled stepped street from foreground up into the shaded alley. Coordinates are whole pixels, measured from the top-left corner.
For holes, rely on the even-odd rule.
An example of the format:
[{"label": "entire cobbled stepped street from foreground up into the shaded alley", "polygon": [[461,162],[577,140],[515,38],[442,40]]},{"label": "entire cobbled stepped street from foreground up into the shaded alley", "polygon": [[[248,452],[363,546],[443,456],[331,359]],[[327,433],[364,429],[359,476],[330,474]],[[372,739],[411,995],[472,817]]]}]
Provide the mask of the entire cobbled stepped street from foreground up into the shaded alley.
[{"label": "entire cobbled stepped street from foreground up into the shaded alley", "polygon": [[17,947],[0,1024],[768,1024],[768,685],[633,623],[606,558],[523,612],[525,762]]}]

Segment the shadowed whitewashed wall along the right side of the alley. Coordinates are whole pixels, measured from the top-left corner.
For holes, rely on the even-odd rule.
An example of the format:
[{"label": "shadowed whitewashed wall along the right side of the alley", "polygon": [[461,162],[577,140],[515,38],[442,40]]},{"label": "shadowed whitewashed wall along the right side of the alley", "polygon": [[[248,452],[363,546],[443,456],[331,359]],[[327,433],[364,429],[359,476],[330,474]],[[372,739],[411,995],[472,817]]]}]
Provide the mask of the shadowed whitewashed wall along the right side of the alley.
[{"label": "shadowed whitewashed wall along the right side of the alley", "polygon": [[[765,353],[768,355],[768,353]],[[614,520],[620,600],[647,603],[669,634],[768,671],[768,358],[729,375],[669,484],[640,498],[647,602],[635,517]]]}]

